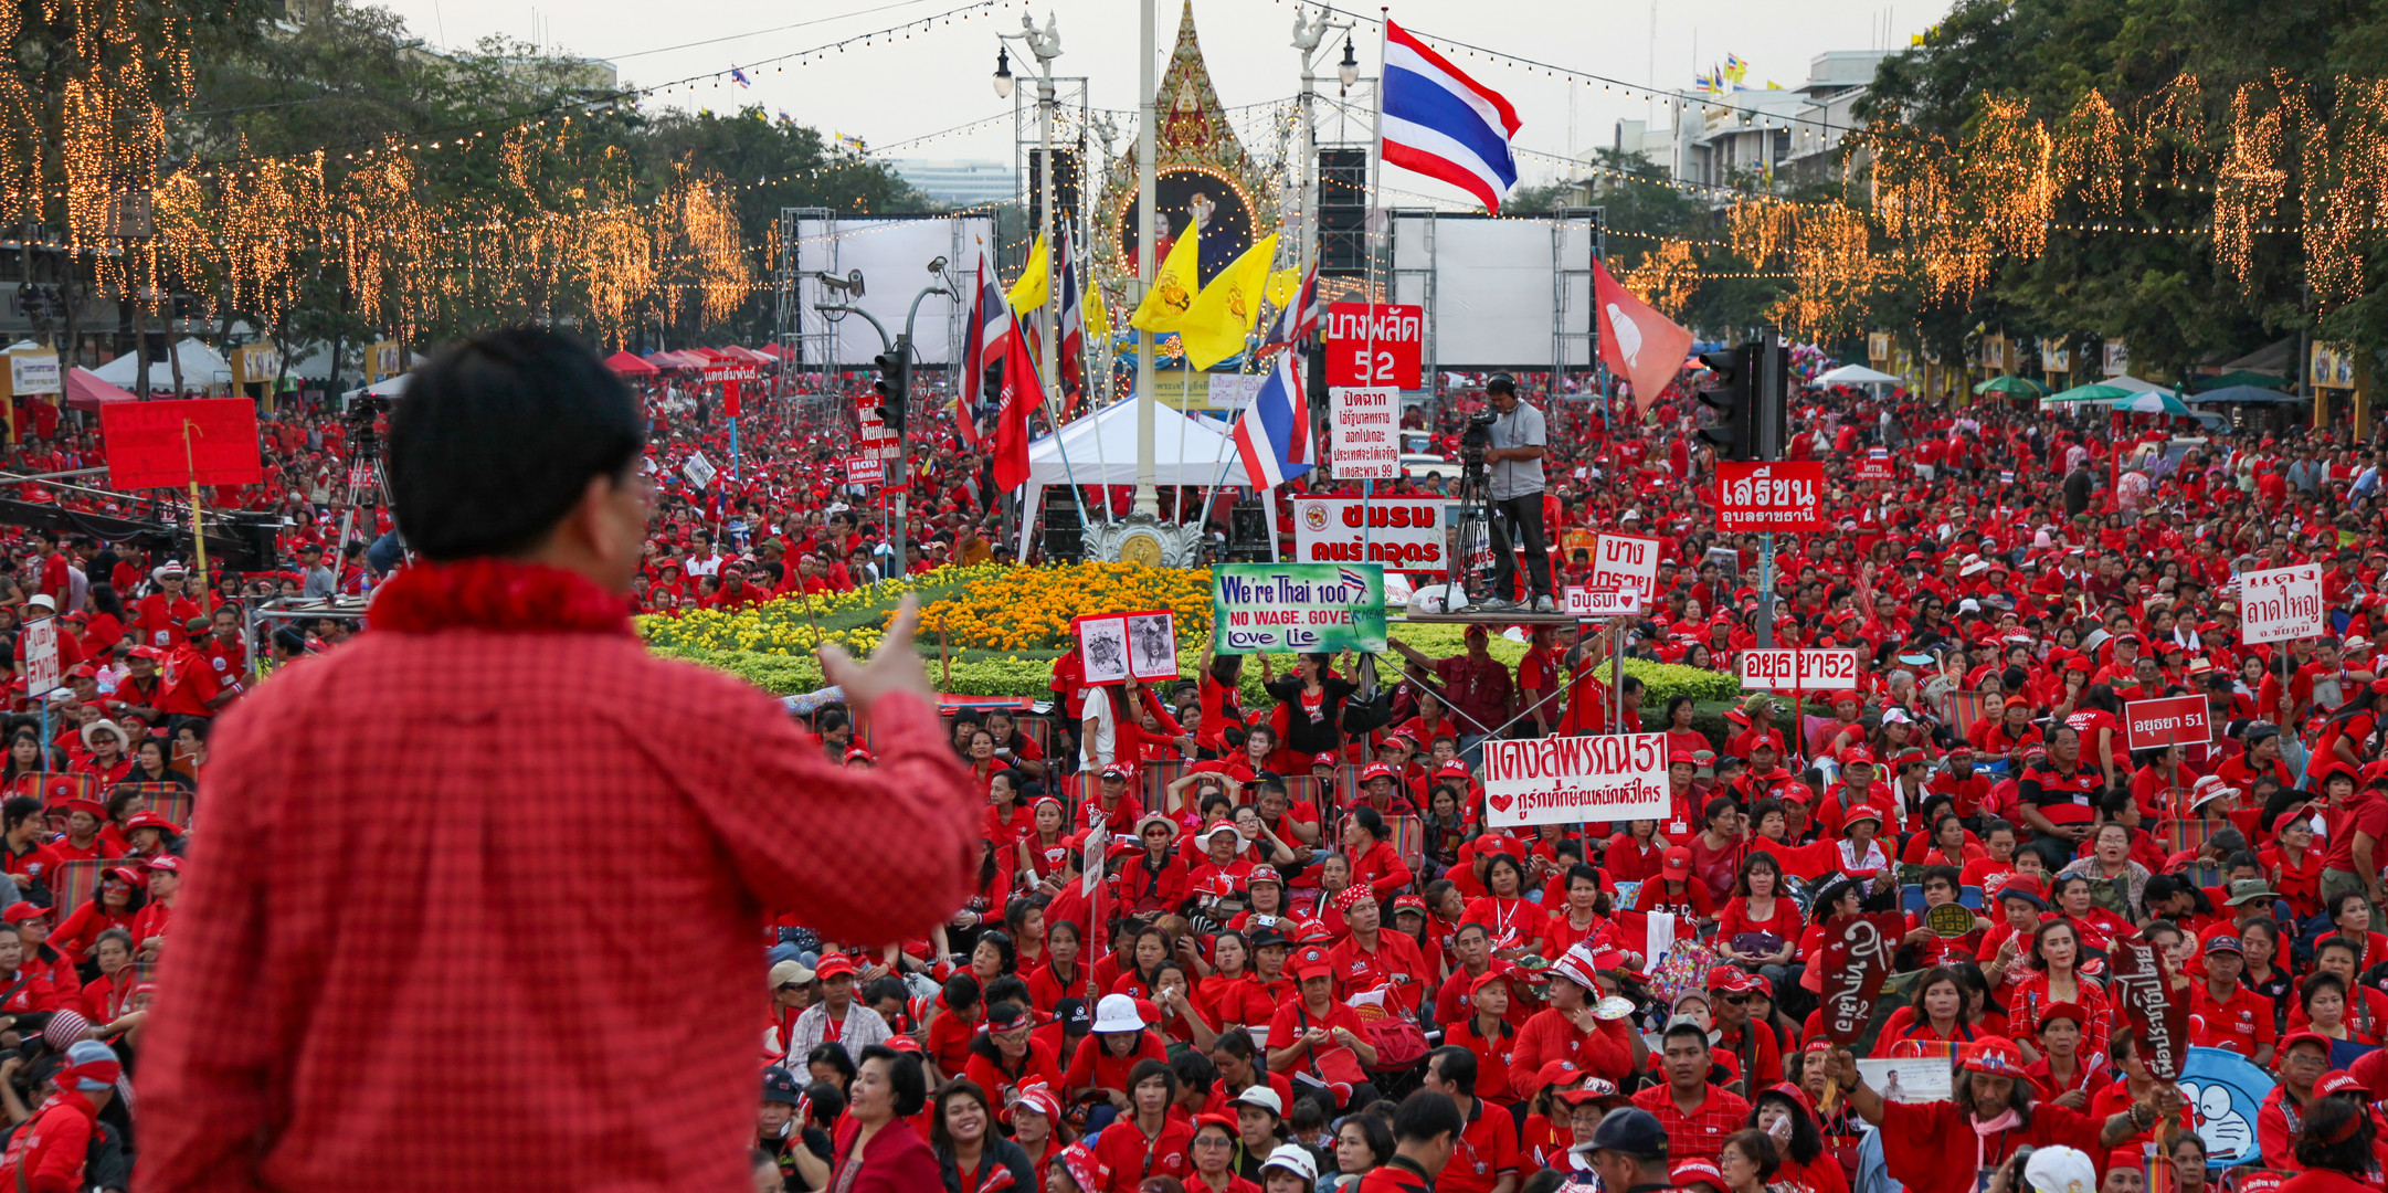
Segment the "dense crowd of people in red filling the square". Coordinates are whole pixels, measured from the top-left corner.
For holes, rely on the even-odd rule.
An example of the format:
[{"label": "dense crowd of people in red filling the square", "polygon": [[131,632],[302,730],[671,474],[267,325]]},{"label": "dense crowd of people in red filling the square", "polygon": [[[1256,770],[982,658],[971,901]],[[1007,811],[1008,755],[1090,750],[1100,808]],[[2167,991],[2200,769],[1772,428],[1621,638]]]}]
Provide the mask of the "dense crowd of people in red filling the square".
[{"label": "dense crowd of people in red filling the square", "polygon": [[[986,460],[934,425],[915,429],[896,561],[886,494],[836,472],[843,401],[750,403],[736,465],[697,487],[681,465],[731,460],[726,425],[647,398],[657,518],[635,608],[857,587],[1005,542]],[[1461,406],[1430,432],[1450,437]],[[1547,418],[1562,582],[1602,530],[1657,537],[1645,618],[1531,628],[1519,666],[1488,651],[1502,625],[1452,659],[1404,651],[1373,723],[1347,721],[1354,663],[1328,656],[1270,673],[1261,706],[1237,656],[1168,687],[1084,687],[1065,659],[1051,709],[948,713],[986,799],[974,895],[884,950],[778,919],[759,1179],[1956,1193],[2061,1145],[2109,1193],[2144,1188],[2152,1160],[2192,1191],[2378,1183],[2388,527],[2369,444],[1808,391],[1791,456],[1824,460],[1834,530],[1784,539],[1772,639],[1853,647],[1860,678],[1717,723],[1586,666],[1621,637],[1734,670],[1758,642],[1758,544],[1712,530],[1691,415],[1660,403],[1612,427],[1562,401]],[[241,606],[380,582],[368,544],[387,515],[337,542],[346,427],[267,415],[270,482],[215,494],[287,515],[284,570],[198,582],[170,551],[69,530],[24,534],[0,580],[0,632],[57,618],[69,675],[33,709],[17,632],[0,988],[24,1055],[0,1062],[0,1102],[17,1124],[88,1124],[55,1136],[88,1150],[86,1186],[122,1188],[103,1174],[129,1167],[112,1093],[155,995],[208,730],[251,687],[253,651],[291,666],[351,632],[327,618],[248,642]],[[1855,480],[1877,446],[1894,480]],[[12,463],[93,460],[93,437],[60,427]],[[2288,563],[2326,568],[2331,632],[2242,642],[2235,575]],[[2125,749],[2123,706],[2168,694],[2207,699],[2214,740]],[[1667,735],[1669,814],[1485,828],[1481,740],[1607,733],[1612,699]],[[833,764],[879,761],[836,692],[793,706]],[[1934,914],[1951,904],[1963,931]],[[1946,1062],[1941,1100],[1877,1088],[1820,1031],[1824,921],[1867,907],[1908,909],[1908,931],[1863,1050]],[[2276,1074],[2254,1162],[2211,1162],[2202,1109],[2149,1076],[2104,983],[2130,935],[2161,945],[2195,1043]],[[72,1150],[29,1138],[0,1167],[50,1172]]]}]

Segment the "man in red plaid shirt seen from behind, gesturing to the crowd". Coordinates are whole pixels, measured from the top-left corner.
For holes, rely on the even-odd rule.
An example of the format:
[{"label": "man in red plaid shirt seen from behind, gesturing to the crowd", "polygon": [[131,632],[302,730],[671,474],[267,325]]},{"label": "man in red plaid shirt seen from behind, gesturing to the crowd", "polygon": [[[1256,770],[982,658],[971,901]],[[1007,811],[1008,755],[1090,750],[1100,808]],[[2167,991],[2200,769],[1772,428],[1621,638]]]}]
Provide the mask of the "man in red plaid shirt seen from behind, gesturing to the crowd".
[{"label": "man in red plaid shirt seen from behind, gesturing to the crowd", "polygon": [[416,372],[387,463],[420,561],[210,737],[148,1188],[738,1188],[767,911],[884,945],[967,897],[910,601],[869,666],[821,659],[876,768],[630,632],[640,427],[547,332]]}]

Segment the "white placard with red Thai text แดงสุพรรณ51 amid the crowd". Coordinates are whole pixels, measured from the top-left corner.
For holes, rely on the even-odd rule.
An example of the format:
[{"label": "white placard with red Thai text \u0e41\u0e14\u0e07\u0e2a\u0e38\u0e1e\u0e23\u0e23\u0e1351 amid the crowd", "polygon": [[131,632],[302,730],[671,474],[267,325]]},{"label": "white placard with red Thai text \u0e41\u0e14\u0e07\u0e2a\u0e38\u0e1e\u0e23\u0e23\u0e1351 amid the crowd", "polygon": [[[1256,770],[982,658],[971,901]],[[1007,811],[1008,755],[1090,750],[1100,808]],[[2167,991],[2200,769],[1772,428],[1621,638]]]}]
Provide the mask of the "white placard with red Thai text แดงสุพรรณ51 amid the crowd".
[{"label": "white placard with red Thai text \u0e41\u0e14\u0e07\u0e2a\u0e38\u0e1e\u0e23\u0e23\u0e1351 amid the crowd", "polygon": [[1485,823],[1655,821],[1667,814],[1667,735],[1483,742]]}]

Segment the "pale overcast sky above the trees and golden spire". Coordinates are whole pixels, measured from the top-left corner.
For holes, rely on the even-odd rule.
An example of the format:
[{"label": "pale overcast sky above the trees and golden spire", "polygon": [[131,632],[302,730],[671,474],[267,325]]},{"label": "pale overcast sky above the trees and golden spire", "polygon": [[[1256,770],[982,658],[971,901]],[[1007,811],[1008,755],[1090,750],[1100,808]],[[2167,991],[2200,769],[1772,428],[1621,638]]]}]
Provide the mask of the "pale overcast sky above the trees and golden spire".
[{"label": "pale overcast sky above the trees and golden spire", "polygon": [[[728,72],[762,60],[862,36],[907,19],[931,17],[967,0],[382,0],[435,45],[466,48],[487,33],[535,38],[554,52],[604,57],[626,84],[659,86],[685,76]],[[1158,2],[1158,52],[1168,55],[1182,0]],[[1342,7],[1373,12],[1375,5]],[[869,48],[855,45],[826,62],[781,72],[747,69],[752,88],[704,81],[647,103],[731,110],[759,103],[786,110],[824,131],[891,146],[891,157],[986,157],[1010,160],[1010,122],[958,136],[896,146],[972,119],[1010,112],[989,86],[996,64],[996,29],[1017,31],[1032,10],[1060,21],[1063,57],[1055,74],[1091,79],[1096,107],[1137,105],[1137,0],[1010,0],[910,38]],[[1664,7],[1650,0],[1402,0],[1392,19],[1433,38],[1461,38],[1557,67],[1595,72],[1629,84],[1688,88],[1695,69],[1727,52],[1750,64],[1748,84],[1798,86],[1808,62],[1824,50],[1903,48],[1946,12],[1946,0],[1903,5],[1834,5],[1827,0],[1698,0]],[[1657,19],[1652,55],[1652,17]],[[1251,105],[1299,88],[1297,52],[1290,45],[1290,0],[1194,0],[1204,60],[1220,103]],[[788,29],[795,26],[795,29]],[[702,45],[690,45],[702,43]],[[1330,43],[1333,45],[1333,43]],[[1013,69],[1027,74],[1024,52]],[[1361,29],[1359,60],[1375,74],[1378,36]],[[1335,91],[1335,55],[1323,55],[1323,91]],[[1645,98],[1624,98],[1600,86],[1562,84],[1485,60],[1454,60],[1478,81],[1502,91],[1519,110],[1516,143],[1540,153],[1586,153],[1607,146],[1617,119],[1650,112]],[[1660,117],[1667,124],[1667,117]],[[1125,131],[1125,129],[1122,129]],[[1557,162],[1521,155],[1521,181],[1547,181]],[[1459,198],[1414,174],[1387,169],[1385,186]]]}]

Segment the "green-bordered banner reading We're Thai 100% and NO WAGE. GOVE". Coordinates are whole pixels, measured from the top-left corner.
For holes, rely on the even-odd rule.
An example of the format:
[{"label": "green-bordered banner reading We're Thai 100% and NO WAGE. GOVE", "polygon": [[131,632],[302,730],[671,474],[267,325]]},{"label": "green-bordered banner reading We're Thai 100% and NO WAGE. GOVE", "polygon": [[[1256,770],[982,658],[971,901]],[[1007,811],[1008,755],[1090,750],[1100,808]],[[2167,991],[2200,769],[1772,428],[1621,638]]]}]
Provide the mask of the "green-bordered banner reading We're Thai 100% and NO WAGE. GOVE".
[{"label": "green-bordered banner reading We're Thai 100% and NO WAGE. GOVE", "polygon": [[1385,651],[1378,563],[1220,563],[1211,568],[1220,654]]}]

